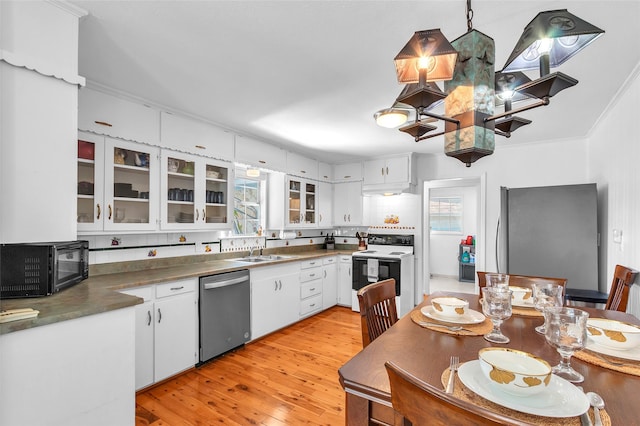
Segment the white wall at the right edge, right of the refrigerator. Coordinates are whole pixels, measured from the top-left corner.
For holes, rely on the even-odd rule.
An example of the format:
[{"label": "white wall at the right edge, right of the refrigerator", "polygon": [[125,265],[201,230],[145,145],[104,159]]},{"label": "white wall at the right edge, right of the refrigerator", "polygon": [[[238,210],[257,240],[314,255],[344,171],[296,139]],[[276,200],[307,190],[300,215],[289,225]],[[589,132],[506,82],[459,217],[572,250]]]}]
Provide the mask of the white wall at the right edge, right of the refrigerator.
[{"label": "white wall at the right edge, right of the refrigerator", "polygon": [[[611,285],[616,264],[640,270],[640,65],[596,124],[588,143],[588,175],[598,184],[600,278]],[[622,242],[613,241],[613,230]],[[640,317],[640,287],[632,287],[628,312]]]}]

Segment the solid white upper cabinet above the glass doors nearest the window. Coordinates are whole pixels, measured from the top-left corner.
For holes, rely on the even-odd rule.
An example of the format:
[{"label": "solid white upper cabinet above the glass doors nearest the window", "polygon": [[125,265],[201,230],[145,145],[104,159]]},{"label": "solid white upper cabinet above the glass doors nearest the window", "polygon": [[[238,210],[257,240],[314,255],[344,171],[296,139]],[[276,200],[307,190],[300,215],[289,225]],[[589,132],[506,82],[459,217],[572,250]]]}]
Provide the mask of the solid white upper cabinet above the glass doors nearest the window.
[{"label": "solid white upper cabinet above the glass doors nearest the window", "polygon": [[233,134],[211,124],[168,112],[160,113],[163,148],[233,161]]}]

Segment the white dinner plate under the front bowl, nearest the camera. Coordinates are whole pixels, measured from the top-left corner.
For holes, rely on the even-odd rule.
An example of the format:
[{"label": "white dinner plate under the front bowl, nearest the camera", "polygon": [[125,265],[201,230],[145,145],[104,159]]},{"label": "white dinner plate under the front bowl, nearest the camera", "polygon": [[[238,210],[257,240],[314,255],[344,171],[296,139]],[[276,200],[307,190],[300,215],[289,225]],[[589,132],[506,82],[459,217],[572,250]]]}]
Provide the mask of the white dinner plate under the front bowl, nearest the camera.
[{"label": "white dinner plate under the front bowl, nearest the camera", "polygon": [[555,374],[547,390],[532,396],[515,396],[496,389],[482,373],[480,361],[465,362],[458,377],[481,397],[522,413],[547,417],[576,417],[589,409],[587,396],[572,383]]}]

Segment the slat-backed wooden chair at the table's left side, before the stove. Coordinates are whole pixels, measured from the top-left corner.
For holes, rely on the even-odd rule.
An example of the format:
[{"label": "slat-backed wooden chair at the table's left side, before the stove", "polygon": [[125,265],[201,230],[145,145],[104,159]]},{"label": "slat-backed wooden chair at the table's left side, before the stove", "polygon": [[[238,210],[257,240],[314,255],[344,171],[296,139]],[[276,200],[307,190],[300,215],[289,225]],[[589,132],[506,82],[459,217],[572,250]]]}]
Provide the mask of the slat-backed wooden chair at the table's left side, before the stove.
[{"label": "slat-backed wooden chair at the table's left side, before the stove", "polygon": [[358,290],[362,347],[384,333],[398,321],[396,280],[379,281]]}]

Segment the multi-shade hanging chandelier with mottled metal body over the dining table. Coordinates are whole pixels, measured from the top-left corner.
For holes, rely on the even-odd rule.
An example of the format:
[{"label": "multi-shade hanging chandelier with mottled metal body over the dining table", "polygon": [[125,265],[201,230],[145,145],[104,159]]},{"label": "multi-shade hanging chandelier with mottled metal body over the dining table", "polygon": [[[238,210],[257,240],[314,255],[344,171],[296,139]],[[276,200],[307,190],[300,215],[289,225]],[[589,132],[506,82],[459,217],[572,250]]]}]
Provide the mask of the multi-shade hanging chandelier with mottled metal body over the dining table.
[{"label": "multi-shade hanging chandelier with mottled metal body over the dining table", "polygon": [[[399,127],[416,142],[444,135],[445,154],[467,167],[495,147],[495,135],[511,137],[531,120],[514,114],[549,105],[550,98],[572,87],[578,80],[561,72],[549,73],[604,31],[572,15],[566,9],[540,12],[524,29],[503,70],[496,72],[495,45],[491,37],[473,29],[471,0],[467,0],[467,32],[449,42],[439,29],[417,31],[394,58],[399,83],[406,84],[394,106],[415,110],[415,120],[406,109],[378,111],[374,117],[384,127]],[[531,80],[522,71],[540,70]],[[442,91],[435,83],[444,81]],[[527,103],[513,109],[513,103]],[[432,110],[444,102],[444,114]],[[495,108],[504,111],[496,113]],[[403,113],[398,113],[403,111]],[[386,114],[396,121],[386,124]],[[382,120],[381,120],[382,119]],[[444,131],[429,133],[444,122]],[[383,121],[384,122],[384,121]]]}]

